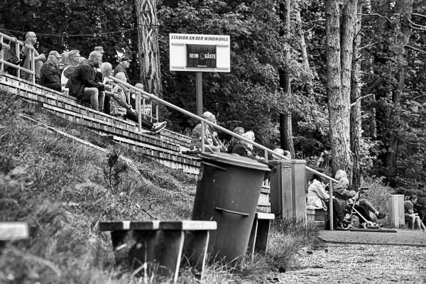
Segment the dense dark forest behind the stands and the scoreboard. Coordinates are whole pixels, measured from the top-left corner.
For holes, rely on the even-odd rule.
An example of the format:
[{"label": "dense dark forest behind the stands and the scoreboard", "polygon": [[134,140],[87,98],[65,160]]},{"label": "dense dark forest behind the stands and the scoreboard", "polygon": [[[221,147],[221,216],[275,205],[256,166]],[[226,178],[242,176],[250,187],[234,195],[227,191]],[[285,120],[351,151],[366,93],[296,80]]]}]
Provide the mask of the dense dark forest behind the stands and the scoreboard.
[{"label": "dense dark forest behind the stands and the scoreboard", "polygon": [[[143,82],[148,92],[194,113],[195,73],[169,71],[168,34],[230,35],[231,72],[203,74],[204,109],[216,114],[221,126],[251,129],[259,143],[289,149],[329,173],[339,167],[336,155],[345,152],[351,161],[342,168],[354,170],[354,177],[383,177],[400,192],[421,195],[426,194],[425,15],[422,0],[6,0],[0,4],[0,31],[21,40],[34,31],[39,53],[78,49],[87,57],[102,45],[104,62],[113,66],[117,52],[124,53],[133,59],[128,70],[133,84]],[[153,79],[143,70],[155,67],[145,64],[151,55],[141,48],[151,35],[158,43],[158,70],[151,70],[157,88],[149,87]],[[341,40],[342,54],[333,53],[333,40]],[[347,43],[351,47],[345,49]],[[345,50],[351,55],[352,94],[343,87]],[[339,122],[330,110],[343,106],[332,98],[333,70],[342,74],[340,99],[347,99],[346,109],[356,118],[349,129],[345,115],[347,127],[337,131],[347,131],[356,142],[344,151],[330,133]],[[160,115],[175,131],[196,123],[168,109]],[[349,146],[349,140],[342,143]]]}]

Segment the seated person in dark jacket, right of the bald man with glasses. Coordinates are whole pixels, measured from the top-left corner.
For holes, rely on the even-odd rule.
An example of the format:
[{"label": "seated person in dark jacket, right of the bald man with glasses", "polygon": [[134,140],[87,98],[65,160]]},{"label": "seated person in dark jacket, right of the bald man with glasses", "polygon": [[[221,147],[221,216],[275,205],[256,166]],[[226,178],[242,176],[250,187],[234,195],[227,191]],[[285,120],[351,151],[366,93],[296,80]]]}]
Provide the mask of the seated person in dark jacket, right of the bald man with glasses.
[{"label": "seated person in dark jacket, right of the bald man with glasses", "polygon": [[40,85],[62,92],[60,70],[58,66],[58,62],[61,58],[62,56],[58,51],[50,51],[48,60],[43,64],[40,70]]}]

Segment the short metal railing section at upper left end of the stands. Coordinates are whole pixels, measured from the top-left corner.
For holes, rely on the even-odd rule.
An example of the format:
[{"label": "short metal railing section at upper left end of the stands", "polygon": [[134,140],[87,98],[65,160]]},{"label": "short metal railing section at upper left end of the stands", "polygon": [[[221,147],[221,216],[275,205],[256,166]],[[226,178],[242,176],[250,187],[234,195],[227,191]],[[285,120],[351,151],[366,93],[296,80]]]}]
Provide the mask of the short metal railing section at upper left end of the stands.
[{"label": "short metal railing section at upper left end of the stands", "polygon": [[[31,69],[26,69],[24,67],[21,67],[19,65],[15,65],[12,64],[11,62],[7,62],[6,60],[4,60],[4,57],[2,56],[0,58],[0,74],[3,74],[4,72],[4,65],[9,66],[9,67],[13,67],[15,69],[18,70],[17,73],[17,77],[21,77],[21,71],[27,72],[31,75],[31,82],[35,83],[35,60],[34,60],[34,47],[32,45],[28,45],[26,43],[24,43],[21,40],[18,40],[16,38],[12,38],[9,35],[6,35],[4,33],[0,33],[0,43],[4,43],[4,39],[9,40],[9,42],[14,42],[15,43],[15,56],[18,59],[21,59],[21,46],[28,48],[30,50],[30,52],[28,53],[29,56],[29,60],[31,60]],[[0,53],[4,54],[4,50],[2,50]]]}]

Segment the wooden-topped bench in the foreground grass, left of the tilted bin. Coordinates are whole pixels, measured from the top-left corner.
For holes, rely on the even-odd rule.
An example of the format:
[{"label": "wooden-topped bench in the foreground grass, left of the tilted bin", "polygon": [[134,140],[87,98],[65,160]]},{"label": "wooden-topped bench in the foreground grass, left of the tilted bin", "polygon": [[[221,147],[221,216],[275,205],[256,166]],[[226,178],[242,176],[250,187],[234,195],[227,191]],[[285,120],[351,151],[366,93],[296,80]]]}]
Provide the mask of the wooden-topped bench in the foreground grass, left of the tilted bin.
[{"label": "wooden-topped bench in the foreground grass, left of the tilted bin", "polygon": [[[189,264],[202,279],[209,231],[214,221],[101,222],[100,231],[111,231],[117,263],[132,269],[147,267],[155,277],[178,279],[180,265]],[[156,271],[155,271],[155,268]],[[143,271],[141,271],[143,272]]]}]

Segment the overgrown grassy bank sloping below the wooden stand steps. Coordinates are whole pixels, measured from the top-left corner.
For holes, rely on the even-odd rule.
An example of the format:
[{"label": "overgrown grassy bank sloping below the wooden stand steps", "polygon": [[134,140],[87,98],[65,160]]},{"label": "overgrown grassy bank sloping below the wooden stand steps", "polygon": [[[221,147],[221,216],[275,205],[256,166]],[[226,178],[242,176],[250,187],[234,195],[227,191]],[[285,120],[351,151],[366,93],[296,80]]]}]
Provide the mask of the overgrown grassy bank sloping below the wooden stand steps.
[{"label": "overgrown grassy bank sloping below the wooden stand steps", "polygon": [[[131,158],[143,178],[116,159],[119,154]],[[195,187],[195,178],[0,91],[0,222],[28,222],[36,228],[31,239],[6,246],[0,283],[143,283],[114,264],[109,234],[99,232],[99,222],[190,219]],[[209,266],[205,283],[257,283],[268,271],[290,267],[295,252],[314,238],[312,228],[276,225],[267,256],[256,256],[241,271]],[[195,281],[183,271],[180,283]]]}]

